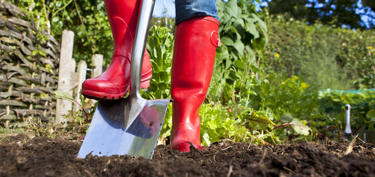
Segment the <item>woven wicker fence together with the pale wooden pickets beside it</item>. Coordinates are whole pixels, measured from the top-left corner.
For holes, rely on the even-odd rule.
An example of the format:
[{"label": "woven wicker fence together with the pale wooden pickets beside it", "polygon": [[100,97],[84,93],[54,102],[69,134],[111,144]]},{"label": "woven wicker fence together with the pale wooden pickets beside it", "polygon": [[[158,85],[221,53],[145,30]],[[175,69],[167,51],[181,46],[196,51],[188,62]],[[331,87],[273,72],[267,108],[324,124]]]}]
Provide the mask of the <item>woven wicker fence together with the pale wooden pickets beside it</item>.
[{"label": "woven wicker fence together with the pale wooden pickets beside it", "polygon": [[[23,118],[64,121],[67,110],[78,110],[55,99],[53,91],[66,92],[79,100],[87,64],[72,59],[74,33],[63,31],[60,43],[8,1],[0,2],[0,124],[23,125]],[[36,25],[35,25],[36,24]],[[46,40],[36,36],[42,34]],[[60,52],[61,51],[61,52]],[[92,75],[102,70],[103,57],[93,56]]]}]

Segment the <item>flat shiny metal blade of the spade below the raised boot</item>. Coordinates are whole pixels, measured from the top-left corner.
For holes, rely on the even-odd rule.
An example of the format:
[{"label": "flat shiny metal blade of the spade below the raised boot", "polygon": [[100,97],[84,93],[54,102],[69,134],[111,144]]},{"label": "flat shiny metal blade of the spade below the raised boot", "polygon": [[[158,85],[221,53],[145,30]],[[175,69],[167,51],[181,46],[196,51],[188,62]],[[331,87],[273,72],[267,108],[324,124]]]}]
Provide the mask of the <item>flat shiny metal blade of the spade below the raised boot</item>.
[{"label": "flat shiny metal blade of the spade below the raised boot", "polygon": [[125,127],[124,112],[129,98],[99,102],[85,140],[78,153],[98,156],[130,155],[152,158],[170,100],[148,101],[138,116]]}]

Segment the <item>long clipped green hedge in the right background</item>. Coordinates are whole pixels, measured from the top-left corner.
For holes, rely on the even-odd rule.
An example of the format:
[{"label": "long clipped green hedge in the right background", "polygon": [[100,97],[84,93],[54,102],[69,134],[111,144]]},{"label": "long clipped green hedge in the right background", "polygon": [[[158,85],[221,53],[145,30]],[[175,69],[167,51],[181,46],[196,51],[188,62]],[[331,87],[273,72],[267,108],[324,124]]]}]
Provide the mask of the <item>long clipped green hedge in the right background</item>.
[{"label": "long clipped green hedge in the right background", "polygon": [[374,30],[307,25],[282,15],[271,16],[267,22],[266,72],[300,75],[319,89],[374,87]]}]

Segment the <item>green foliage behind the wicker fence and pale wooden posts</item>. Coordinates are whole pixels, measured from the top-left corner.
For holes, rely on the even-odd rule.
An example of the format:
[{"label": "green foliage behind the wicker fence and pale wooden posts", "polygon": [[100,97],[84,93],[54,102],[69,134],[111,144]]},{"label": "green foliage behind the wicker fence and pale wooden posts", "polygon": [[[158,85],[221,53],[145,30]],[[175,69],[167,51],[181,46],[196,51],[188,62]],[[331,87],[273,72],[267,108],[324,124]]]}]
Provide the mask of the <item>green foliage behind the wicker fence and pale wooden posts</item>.
[{"label": "green foliage behind the wicker fence and pale wooden posts", "polygon": [[[91,56],[99,53],[109,64],[114,46],[103,1],[26,0],[15,5],[27,12],[28,19],[36,19],[39,30],[49,31],[56,39],[64,29],[73,31],[74,59],[91,63]],[[40,31],[35,35],[41,41],[46,38]]]}]

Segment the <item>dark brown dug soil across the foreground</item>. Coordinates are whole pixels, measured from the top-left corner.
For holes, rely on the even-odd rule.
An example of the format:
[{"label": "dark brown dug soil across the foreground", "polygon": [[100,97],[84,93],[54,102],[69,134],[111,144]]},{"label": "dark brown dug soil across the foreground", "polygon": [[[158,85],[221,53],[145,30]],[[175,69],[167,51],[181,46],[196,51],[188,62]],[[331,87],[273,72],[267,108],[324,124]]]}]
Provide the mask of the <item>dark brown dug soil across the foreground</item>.
[{"label": "dark brown dug soil across the foreground", "polygon": [[375,144],[283,144],[262,147],[221,141],[190,153],[159,145],[152,160],[88,155],[82,142],[20,134],[0,144],[0,176],[375,176]]}]

